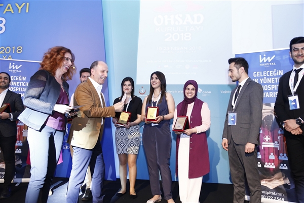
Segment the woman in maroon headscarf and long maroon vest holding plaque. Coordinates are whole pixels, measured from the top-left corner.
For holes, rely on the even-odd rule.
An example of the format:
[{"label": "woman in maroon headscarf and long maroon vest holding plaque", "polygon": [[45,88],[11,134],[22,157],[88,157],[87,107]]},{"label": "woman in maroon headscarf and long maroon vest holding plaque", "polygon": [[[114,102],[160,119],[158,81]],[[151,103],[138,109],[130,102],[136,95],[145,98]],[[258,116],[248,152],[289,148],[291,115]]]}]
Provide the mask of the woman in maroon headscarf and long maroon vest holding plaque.
[{"label": "woman in maroon headscarf and long maroon vest holding plaque", "polygon": [[[176,175],[181,202],[199,202],[203,176],[210,171],[206,131],[210,127],[207,103],[197,98],[198,84],[188,80],[183,88],[184,99],[174,112],[173,130],[176,140]],[[176,127],[178,117],[187,116],[187,126]],[[179,123],[180,124],[180,123]],[[187,129],[186,129],[187,128]]]}]

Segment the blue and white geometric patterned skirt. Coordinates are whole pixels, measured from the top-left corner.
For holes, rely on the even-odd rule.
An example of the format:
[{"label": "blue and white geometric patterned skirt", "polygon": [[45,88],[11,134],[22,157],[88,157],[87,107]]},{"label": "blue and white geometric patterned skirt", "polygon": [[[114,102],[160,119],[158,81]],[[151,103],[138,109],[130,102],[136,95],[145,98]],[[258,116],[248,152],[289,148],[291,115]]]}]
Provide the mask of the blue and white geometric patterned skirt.
[{"label": "blue and white geometric patterned skirt", "polygon": [[115,143],[118,154],[138,154],[140,145],[139,125],[130,128],[116,128]]}]

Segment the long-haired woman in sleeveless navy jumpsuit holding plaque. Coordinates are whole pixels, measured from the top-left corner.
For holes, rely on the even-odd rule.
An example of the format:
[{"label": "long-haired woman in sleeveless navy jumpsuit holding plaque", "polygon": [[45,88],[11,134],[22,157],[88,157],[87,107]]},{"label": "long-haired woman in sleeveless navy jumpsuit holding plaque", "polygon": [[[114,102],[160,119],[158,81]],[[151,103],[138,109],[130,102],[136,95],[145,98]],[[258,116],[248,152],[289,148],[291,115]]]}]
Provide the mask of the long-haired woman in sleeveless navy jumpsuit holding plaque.
[{"label": "long-haired woman in sleeveless navy jumpsuit holding plaque", "polygon": [[172,199],[172,178],[170,171],[171,131],[170,119],[175,110],[172,95],[166,92],[165,75],[159,71],[151,74],[150,92],[143,100],[141,121],[145,122],[142,142],[145,150],[151,192],[153,197],[147,203],[162,200],[160,177],[164,190],[164,198],[168,203]]}]

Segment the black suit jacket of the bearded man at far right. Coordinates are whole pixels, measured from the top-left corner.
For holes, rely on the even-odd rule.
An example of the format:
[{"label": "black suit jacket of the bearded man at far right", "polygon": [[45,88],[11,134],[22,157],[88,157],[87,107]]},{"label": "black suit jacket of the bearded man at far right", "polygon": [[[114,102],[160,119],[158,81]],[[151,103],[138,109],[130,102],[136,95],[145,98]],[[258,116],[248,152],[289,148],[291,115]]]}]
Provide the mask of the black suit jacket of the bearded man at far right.
[{"label": "black suit jacket of the bearded man at far right", "polygon": [[[291,72],[292,70],[285,73],[280,78],[278,95],[275,103],[276,116],[278,116],[281,124],[283,124],[285,120],[297,119],[298,117],[304,120],[304,78],[301,79],[295,92],[298,94],[300,109],[289,110],[288,95],[292,94],[289,87],[289,77]],[[304,132],[304,125],[301,125],[301,129]],[[289,136],[291,133],[284,130],[284,135]]]}]

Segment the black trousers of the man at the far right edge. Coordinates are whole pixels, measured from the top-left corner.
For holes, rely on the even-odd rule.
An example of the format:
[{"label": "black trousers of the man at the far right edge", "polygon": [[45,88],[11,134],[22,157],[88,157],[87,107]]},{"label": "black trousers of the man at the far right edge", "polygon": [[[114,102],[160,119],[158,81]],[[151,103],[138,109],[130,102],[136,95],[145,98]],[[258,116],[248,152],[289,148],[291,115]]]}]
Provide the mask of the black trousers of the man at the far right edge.
[{"label": "black trousers of the man at the far right edge", "polygon": [[304,203],[304,135],[286,136],[286,145],[297,202]]}]

